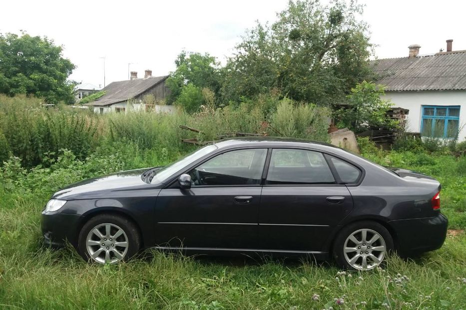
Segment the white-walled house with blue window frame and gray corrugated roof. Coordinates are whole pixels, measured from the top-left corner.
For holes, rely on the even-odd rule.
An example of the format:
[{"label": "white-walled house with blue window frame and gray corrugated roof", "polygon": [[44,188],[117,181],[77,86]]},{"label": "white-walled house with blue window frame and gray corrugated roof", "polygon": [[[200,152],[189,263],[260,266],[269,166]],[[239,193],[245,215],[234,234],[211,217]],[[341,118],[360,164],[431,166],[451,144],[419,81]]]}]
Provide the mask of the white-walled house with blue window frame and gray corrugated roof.
[{"label": "white-walled house with blue window frame and gray corrugated roof", "polygon": [[409,109],[407,132],[423,137],[466,138],[466,50],[420,55],[420,45],[409,46],[409,56],[374,61],[377,83],[386,98]]}]

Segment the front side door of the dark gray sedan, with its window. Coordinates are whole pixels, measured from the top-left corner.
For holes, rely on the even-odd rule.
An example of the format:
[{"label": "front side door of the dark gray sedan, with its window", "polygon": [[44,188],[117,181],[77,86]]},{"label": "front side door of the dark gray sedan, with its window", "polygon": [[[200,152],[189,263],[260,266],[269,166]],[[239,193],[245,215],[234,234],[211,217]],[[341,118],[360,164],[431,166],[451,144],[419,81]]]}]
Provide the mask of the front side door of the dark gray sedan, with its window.
[{"label": "front side door of the dark gray sedan, with its window", "polygon": [[159,246],[251,249],[257,246],[267,149],[210,158],[189,171],[190,189],[162,189],[155,208]]}]

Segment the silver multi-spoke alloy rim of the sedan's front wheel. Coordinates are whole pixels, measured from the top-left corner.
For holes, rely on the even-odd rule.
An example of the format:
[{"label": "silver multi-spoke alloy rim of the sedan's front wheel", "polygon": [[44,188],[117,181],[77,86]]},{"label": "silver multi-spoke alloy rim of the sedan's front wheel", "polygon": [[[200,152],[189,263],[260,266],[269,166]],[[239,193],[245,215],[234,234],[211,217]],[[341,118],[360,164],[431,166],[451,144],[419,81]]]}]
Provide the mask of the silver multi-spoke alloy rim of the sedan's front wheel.
[{"label": "silver multi-spoke alloy rim of the sedan's front wheel", "polygon": [[94,261],[101,264],[121,261],[126,256],[128,247],[126,233],[115,224],[98,224],[87,234],[87,253]]}]

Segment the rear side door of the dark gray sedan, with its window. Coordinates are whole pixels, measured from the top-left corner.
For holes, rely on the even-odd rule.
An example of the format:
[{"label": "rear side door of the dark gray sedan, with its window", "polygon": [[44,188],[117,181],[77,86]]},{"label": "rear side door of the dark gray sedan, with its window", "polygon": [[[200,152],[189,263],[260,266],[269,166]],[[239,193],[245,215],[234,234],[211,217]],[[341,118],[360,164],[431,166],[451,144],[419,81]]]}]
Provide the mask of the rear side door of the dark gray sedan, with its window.
[{"label": "rear side door of the dark gray sedan, with its window", "polygon": [[259,208],[262,247],[322,251],[330,233],[352,208],[348,188],[337,184],[322,153],[272,150]]}]

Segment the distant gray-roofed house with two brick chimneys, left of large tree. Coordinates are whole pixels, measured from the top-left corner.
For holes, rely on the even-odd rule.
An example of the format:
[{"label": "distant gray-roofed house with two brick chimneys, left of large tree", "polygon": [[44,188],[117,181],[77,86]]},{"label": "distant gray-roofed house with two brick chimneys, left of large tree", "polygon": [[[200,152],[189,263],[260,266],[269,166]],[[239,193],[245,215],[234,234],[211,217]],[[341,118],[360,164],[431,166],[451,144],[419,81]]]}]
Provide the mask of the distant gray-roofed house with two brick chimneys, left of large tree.
[{"label": "distant gray-roofed house with two brick chimneys, left of large tree", "polygon": [[[137,72],[132,71],[130,80],[108,84],[102,89],[105,94],[99,99],[87,103],[86,106],[93,107],[96,113],[127,112],[127,109],[171,113],[174,109],[173,106],[155,104],[157,101],[165,99],[170,92],[165,85],[167,78],[168,75],[152,76],[151,70],[145,70],[144,78],[138,79]],[[147,98],[152,98],[153,102],[147,102],[145,100]]]}]

